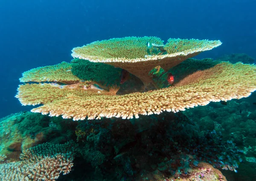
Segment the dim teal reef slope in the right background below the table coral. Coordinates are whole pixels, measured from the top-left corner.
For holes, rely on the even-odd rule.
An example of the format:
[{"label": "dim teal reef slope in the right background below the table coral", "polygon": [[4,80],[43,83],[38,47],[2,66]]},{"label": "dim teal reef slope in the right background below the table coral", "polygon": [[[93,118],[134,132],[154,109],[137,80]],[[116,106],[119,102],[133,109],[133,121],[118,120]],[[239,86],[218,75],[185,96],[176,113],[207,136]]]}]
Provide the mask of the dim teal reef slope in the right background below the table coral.
[{"label": "dim teal reef slope in the right background below the table coral", "polygon": [[210,103],[186,110],[201,129],[221,132],[223,139],[236,145],[244,155],[237,173],[223,172],[229,181],[254,181],[256,178],[256,93],[249,98]]}]

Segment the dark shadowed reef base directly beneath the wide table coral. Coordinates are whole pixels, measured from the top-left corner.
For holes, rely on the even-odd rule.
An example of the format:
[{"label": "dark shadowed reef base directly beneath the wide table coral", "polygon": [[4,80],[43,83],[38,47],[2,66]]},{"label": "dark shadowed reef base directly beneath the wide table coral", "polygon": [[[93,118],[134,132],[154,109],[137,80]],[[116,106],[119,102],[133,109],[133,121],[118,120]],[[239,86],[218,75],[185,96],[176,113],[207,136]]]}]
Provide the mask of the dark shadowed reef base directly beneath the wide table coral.
[{"label": "dark shadowed reef base directly beneath the wide table coral", "polygon": [[233,170],[240,158],[220,132],[200,130],[182,113],[79,121],[76,135],[79,148],[73,171],[58,180],[188,178],[200,162]]}]

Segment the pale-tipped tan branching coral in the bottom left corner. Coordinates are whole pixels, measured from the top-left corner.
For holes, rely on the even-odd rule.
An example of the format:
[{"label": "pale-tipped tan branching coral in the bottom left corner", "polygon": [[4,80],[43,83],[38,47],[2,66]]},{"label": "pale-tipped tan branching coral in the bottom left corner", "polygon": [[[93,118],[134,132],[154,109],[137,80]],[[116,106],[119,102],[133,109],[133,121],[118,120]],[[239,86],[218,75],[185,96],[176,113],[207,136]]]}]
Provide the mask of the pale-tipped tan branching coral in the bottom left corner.
[{"label": "pale-tipped tan branching coral in the bottom left corner", "polygon": [[20,160],[0,164],[0,181],[55,181],[73,167],[73,142],[41,144],[25,150]]}]

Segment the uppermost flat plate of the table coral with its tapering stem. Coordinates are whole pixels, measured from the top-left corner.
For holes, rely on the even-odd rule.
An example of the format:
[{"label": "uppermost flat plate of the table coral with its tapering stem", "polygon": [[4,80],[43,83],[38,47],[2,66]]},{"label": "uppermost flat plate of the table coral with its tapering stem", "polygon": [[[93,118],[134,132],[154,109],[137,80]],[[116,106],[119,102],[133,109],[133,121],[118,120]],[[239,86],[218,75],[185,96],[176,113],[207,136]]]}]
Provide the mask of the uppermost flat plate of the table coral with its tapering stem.
[{"label": "uppermost flat plate of the table coral with its tapering stem", "polygon": [[182,61],[220,45],[219,40],[170,38],[164,45],[158,37],[124,37],[76,47],[72,56],[125,69],[147,86],[152,82],[148,72],[155,66],[168,71]]}]

